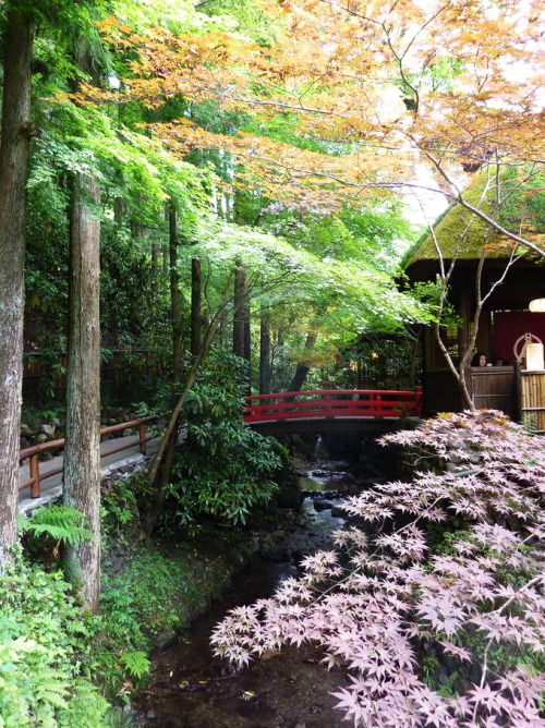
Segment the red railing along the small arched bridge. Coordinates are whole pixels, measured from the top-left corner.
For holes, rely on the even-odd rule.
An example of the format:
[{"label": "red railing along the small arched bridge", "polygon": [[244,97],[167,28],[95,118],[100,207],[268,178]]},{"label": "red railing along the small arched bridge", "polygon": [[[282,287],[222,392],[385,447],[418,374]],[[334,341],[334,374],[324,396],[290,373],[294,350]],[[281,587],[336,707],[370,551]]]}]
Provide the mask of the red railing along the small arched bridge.
[{"label": "red railing along the small arched bridge", "polygon": [[253,395],[245,398],[244,422],[325,417],[400,417],[421,414],[422,389],[323,389]]}]

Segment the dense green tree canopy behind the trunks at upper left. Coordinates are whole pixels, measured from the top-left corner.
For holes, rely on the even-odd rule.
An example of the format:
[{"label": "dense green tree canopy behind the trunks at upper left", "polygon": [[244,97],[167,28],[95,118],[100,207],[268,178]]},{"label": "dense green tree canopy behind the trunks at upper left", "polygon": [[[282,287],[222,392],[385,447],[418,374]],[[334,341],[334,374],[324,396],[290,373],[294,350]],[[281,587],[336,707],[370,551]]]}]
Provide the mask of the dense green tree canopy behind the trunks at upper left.
[{"label": "dense green tree canopy behind the trunks at upper left", "polygon": [[[205,147],[182,157],[146,131],[149,122],[191,118],[207,131],[234,135],[266,133],[308,149],[320,142],[298,133],[292,117],[274,116],[263,125],[252,114],[225,109],[216,99],[161,98],[153,108],[136,100],[117,106],[74,104],[66,96],[88,75],[74,61],[76,45],[88,44],[93,83],[117,88],[133,72],[134,49],[111,48],[94,24],[113,12],[126,27],[154,26],[181,34],[205,28],[239,28],[268,45],[281,21],[253,2],[56,3],[40,14],[33,73],[32,168],[28,182],[25,349],[44,364],[37,397],[44,405],[60,396],[60,356],[65,351],[68,312],[68,211],[75,172],[93,172],[101,192],[101,332],[109,352],[122,360],[118,380],[125,392],[135,369],[168,376],[172,368],[169,230],[166,208],[177,209],[182,332],[190,330],[190,260],[203,265],[203,323],[210,320],[235,263],[255,277],[250,290],[252,349],[257,354],[257,319],[271,312],[272,380],[282,386],[296,366],[305,331],[319,328],[315,364],[331,366],[336,352],[362,331],[400,329],[424,316],[413,300],[396,291],[397,260],[414,231],[399,203],[384,198],[331,213],[278,204],[258,183],[239,183],[241,169],[229,153]],[[57,13],[57,14],[56,14]],[[80,40],[77,40],[80,38]],[[264,236],[263,233],[268,235]],[[268,247],[269,253],[264,254]],[[263,288],[257,279],[263,276]],[[229,302],[226,314],[232,314]],[[111,359],[111,356],[110,356]],[[251,373],[257,383],[257,367]]]}]

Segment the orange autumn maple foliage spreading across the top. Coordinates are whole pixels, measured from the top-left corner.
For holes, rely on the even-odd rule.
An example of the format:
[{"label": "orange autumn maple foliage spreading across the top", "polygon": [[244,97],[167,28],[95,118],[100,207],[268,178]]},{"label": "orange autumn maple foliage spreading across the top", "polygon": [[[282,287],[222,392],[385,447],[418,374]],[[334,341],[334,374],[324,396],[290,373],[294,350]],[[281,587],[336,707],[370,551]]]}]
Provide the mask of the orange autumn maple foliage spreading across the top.
[{"label": "orange autumn maple foliage spreading across the top", "polygon": [[[543,159],[538,2],[259,5],[268,43],[210,19],[174,35],[110,17],[101,31],[131,60],[109,100],[158,109],[183,97],[187,112],[150,124],[170,149],[220,148],[238,181],[303,206],[425,187],[464,204],[483,165],[536,173],[524,165]],[[205,100],[245,123],[198,123],[191,107]],[[295,136],[278,133],[286,124]]]}]

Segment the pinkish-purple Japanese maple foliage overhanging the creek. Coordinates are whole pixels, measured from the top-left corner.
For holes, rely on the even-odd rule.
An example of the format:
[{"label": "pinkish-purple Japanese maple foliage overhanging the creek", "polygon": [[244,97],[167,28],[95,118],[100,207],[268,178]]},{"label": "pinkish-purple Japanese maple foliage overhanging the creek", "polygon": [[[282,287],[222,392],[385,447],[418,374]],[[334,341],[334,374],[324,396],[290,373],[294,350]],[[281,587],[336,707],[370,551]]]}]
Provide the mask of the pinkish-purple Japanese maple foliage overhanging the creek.
[{"label": "pinkish-purple Japanese maple foliage overhanging the creek", "polygon": [[[433,449],[446,471],[350,498],[366,531],[339,532],[339,550],[307,557],[303,577],[230,612],[217,654],[242,666],[317,641],[350,675],[335,694],[355,726],[543,726],[545,438],[482,411],[385,441]],[[448,537],[434,554],[437,523]]]}]

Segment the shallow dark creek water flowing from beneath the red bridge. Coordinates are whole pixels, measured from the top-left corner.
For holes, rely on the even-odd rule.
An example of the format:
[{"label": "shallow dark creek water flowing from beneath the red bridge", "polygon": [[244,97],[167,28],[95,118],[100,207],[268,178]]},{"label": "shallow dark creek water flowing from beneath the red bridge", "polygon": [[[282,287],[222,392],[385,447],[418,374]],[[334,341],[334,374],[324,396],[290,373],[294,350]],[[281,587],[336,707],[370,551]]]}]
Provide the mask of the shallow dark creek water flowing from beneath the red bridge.
[{"label": "shallow dark creek water flowing from beneath the red bridge", "polygon": [[[320,463],[301,480],[305,526],[290,536],[294,554],[328,546],[342,520],[331,514],[342,492],[340,463]],[[340,487],[339,487],[340,486]],[[316,507],[316,508],[315,508]],[[335,513],[335,510],[334,510]],[[311,545],[310,545],[311,544]],[[228,609],[269,596],[280,581],[298,572],[294,559],[256,558],[238,573],[209,611],[196,619],[185,639],[155,656],[156,669],[138,709],[146,726],[161,728],[336,728],[346,725],[330,693],[347,684],[340,670],[328,671],[314,646],[287,648],[232,672],[214,657],[208,640]]]}]

